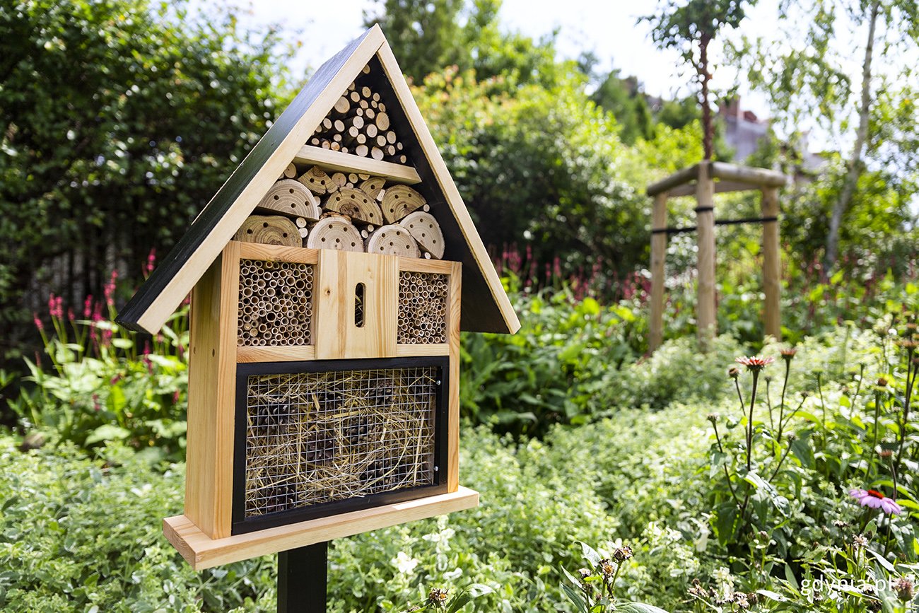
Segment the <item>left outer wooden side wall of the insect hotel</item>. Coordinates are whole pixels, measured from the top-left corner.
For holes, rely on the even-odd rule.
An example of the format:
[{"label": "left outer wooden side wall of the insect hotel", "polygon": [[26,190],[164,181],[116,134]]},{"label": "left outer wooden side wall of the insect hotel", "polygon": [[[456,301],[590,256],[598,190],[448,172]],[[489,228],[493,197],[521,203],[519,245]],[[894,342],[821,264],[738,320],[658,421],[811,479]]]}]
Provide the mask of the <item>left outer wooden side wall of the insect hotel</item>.
[{"label": "left outer wooden side wall of the insect hotel", "polygon": [[230,535],[239,248],[230,243],[192,292],[185,515]]}]

